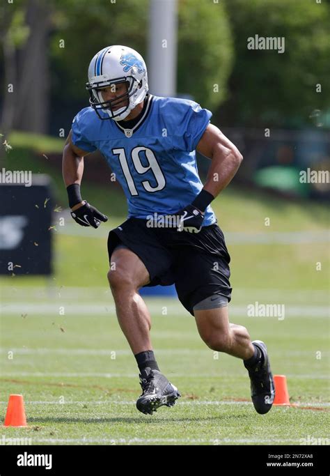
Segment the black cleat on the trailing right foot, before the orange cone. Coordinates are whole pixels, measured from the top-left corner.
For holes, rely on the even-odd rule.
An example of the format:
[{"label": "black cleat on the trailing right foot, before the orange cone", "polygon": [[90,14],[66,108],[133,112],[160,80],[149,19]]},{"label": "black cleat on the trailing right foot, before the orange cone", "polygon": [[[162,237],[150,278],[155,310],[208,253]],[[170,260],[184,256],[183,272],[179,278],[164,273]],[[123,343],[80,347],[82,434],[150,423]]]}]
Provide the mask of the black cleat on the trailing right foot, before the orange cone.
[{"label": "black cleat on the trailing right foot, before the orange cone", "polygon": [[256,411],[263,415],[269,412],[275,398],[275,386],[272,371],[270,369],[267,347],[262,341],[253,341],[260,352],[263,360],[261,360],[253,369],[249,370],[251,380],[251,399]]}]

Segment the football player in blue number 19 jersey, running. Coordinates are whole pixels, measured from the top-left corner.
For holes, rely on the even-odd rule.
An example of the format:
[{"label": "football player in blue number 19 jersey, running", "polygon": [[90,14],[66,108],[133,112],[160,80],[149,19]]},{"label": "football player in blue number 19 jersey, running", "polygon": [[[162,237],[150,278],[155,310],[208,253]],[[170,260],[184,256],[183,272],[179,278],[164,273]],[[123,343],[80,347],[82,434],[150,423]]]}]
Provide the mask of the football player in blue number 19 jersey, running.
[{"label": "football player in blue number 19 jersey, running", "polygon": [[[166,72],[164,72],[166,74]],[[113,45],[95,54],[86,89],[90,107],[72,122],[63,151],[63,178],[73,219],[100,226],[107,217],[81,197],[84,157],[104,155],[127,198],[127,220],[109,233],[109,284],[140,371],[138,410],[173,406],[177,387],[159,370],[142,286],[175,284],[201,338],[214,351],[240,358],[249,371],[258,413],[274,401],[267,348],[242,325],[229,323],[230,256],[212,200],[230,183],[242,155],[194,101],[148,92],[146,63],[134,49]],[[209,158],[205,185],[196,151]],[[86,197],[87,198],[87,197]]]}]

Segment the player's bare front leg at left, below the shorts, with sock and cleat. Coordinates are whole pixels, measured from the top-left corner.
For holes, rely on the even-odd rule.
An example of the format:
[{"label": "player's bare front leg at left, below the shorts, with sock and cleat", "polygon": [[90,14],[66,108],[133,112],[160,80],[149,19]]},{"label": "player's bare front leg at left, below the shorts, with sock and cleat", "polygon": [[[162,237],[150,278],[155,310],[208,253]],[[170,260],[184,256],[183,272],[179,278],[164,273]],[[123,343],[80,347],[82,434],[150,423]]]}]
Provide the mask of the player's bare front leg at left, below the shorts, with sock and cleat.
[{"label": "player's bare front leg at left, below the shorts, with sock and cleat", "polygon": [[111,254],[108,279],[120,328],[141,372],[143,392],[136,401],[136,407],[142,413],[151,414],[159,406],[173,406],[180,394],[177,387],[159,371],[150,339],[150,314],[138,293],[141,286],[150,282],[146,266],[134,252],[119,245]]}]

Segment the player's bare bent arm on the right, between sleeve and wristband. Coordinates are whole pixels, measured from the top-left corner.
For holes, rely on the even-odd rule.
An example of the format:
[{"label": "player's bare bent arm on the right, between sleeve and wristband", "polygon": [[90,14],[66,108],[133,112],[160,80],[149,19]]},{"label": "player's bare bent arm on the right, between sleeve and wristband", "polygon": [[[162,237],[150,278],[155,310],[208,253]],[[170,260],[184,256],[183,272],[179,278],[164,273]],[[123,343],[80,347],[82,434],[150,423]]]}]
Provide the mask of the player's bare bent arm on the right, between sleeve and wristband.
[{"label": "player's bare bent arm on the right, between sleeve and wristband", "polygon": [[243,160],[242,154],[221,130],[212,124],[207,126],[196,150],[212,160],[204,190],[217,197],[235,176]]}]

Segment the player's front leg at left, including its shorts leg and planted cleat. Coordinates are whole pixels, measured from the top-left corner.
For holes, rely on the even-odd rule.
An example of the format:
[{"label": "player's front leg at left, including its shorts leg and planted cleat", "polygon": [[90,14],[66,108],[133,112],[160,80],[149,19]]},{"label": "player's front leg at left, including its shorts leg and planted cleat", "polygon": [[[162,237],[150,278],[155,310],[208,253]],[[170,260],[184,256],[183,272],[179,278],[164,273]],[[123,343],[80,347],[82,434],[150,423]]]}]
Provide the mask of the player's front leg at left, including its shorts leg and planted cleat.
[{"label": "player's front leg at left, including its shorts leg and planted cleat", "polygon": [[136,407],[151,414],[159,406],[173,406],[180,394],[159,371],[150,339],[150,314],[138,290],[146,284],[173,282],[171,254],[146,227],[146,220],[134,218],[110,231],[108,253],[118,321],[140,371],[142,394]]}]

